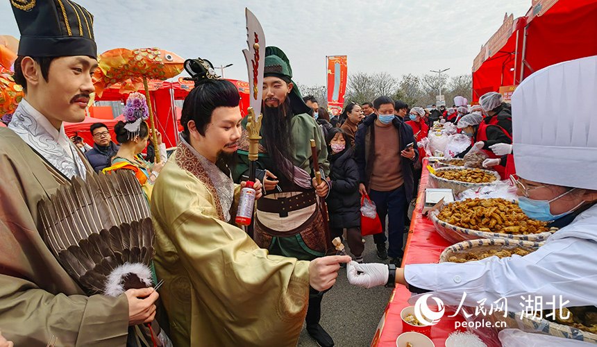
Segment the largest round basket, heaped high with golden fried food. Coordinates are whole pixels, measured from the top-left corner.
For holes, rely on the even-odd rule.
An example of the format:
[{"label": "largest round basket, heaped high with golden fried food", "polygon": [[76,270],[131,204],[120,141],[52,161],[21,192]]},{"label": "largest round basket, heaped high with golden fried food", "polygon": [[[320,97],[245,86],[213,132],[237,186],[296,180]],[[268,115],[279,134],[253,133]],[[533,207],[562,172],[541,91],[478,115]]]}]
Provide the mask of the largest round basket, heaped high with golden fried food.
[{"label": "largest round basket, heaped high with golden fried food", "polygon": [[523,239],[541,242],[556,228],[530,219],[515,201],[503,198],[467,198],[431,214],[435,230],[451,242],[469,239]]}]

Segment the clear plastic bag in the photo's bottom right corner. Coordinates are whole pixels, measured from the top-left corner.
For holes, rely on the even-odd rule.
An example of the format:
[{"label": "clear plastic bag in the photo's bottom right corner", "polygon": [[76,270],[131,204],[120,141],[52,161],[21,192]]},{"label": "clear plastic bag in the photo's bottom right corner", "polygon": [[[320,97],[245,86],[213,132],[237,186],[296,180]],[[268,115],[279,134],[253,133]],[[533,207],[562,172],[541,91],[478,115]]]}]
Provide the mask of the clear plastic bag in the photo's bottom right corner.
[{"label": "clear plastic bag in the photo's bottom right corner", "polygon": [[551,335],[533,334],[518,329],[502,330],[498,337],[503,347],[544,347],[544,346],[595,346],[585,341],[575,341]]}]

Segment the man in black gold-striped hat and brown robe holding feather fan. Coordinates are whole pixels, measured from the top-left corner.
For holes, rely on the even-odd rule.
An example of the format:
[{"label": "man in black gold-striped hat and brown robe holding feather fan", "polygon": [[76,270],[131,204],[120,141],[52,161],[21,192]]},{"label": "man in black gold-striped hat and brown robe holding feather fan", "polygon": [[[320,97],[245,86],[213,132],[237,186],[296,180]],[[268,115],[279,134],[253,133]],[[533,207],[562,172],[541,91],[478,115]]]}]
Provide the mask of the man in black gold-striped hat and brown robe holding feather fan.
[{"label": "man in black gold-striped hat and brown robe holding feather fan", "polygon": [[[85,119],[97,67],[92,15],[72,1],[10,1],[22,33],[15,81],[25,97],[0,128],[0,330],[15,346],[125,346],[153,320],[157,293],[86,296],[42,239],[37,203],[93,172],[65,135]],[[140,298],[137,298],[140,297]]]}]

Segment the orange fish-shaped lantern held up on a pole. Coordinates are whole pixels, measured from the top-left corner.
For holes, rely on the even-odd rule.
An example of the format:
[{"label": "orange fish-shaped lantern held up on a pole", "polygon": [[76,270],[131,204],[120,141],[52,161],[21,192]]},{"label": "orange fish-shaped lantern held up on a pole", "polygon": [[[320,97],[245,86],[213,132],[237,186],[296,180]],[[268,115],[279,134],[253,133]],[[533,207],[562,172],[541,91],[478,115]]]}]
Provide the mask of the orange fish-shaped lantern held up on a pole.
[{"label": "orange fish-shaped lantern held up on a pole", "polygon": [[165,81],[180,74],[184,68],[184,60],[174,53],[158,48],[142,49],[111,49],[98,57],[99,68],[94,78],[95,92],[98,96],[103,90],[121,83],[120,92],[136,92],[141,87],[145,90],[147,105],[149,106],[149,120],[153,145],[155,146],[155,162],[160,162],[158,137],[155,132],[155,121],[151,99],[149,96],[148,79]]}]

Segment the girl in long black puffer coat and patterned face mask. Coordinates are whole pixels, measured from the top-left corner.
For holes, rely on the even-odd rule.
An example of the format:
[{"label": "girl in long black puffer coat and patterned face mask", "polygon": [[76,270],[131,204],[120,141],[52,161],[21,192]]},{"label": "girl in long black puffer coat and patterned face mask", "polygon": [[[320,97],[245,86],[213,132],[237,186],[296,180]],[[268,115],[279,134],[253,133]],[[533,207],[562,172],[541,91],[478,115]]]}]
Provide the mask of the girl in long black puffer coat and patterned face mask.
[{"label": "girl in long black puffer coat and patterned face mask", "polygon": [[339,128],[328,132],[328,160],[330,161],[330,195],[326,198],[332,238],[342,237],[346,229],[348,248],[356,262],[363,262],[364,244],[360,230],[359,169],[353,158],[354,149],[348,144],[348,134]]}]

